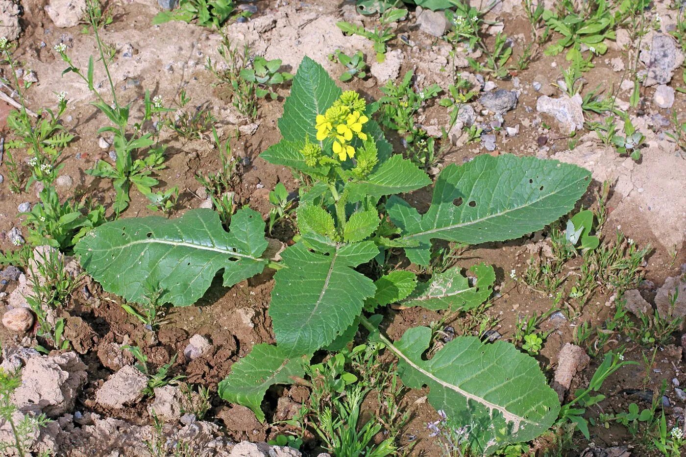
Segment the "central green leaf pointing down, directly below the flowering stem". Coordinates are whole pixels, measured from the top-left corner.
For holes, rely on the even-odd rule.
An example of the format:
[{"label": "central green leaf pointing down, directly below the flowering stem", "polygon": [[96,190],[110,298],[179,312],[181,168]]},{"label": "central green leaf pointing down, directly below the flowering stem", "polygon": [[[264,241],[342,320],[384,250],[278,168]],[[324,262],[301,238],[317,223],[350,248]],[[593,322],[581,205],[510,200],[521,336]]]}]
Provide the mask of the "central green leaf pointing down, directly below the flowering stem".
[{"label": "central green leaf pointing down, directly below the flowering stem", "polygon": [[269,315],[285,355],[314,353],[353,323],[375,287],[351,267],[377,253],[373,242],[331,244],[324,254],[313,253],[299,242],[281,253],[287,268],[274,275]]}]

